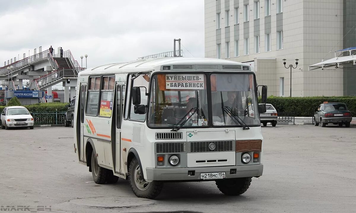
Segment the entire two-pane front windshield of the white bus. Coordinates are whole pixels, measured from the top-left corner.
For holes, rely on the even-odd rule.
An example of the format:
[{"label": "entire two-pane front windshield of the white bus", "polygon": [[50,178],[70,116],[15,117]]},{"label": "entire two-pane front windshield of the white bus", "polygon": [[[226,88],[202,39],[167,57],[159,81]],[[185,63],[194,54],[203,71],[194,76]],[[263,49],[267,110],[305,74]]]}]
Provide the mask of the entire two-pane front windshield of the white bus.
[{"label": "entire two-pane front windshield of the white bus", "polygon": [[[251,105],[253,111],[258,111],[252,74],[211,74],[211,85],[206,78],[201,73],[153,75],[148,125],[153,128],[260,125],[258,113],[248,109]],[[207,88],[211,89],[211,95]]]}]

